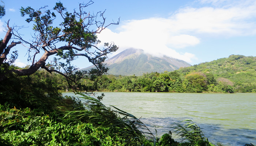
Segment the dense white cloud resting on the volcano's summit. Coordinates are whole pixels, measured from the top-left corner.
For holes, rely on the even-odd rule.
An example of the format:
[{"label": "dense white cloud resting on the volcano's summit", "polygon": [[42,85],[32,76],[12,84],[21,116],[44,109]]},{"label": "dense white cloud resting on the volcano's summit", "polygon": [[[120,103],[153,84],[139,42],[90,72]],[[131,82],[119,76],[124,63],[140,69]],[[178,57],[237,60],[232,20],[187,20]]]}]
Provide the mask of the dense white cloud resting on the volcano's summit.
[{"label": "dense white cloud resting on the volcano's summit", "polygon": [[[98,38],[102,42],[114,42],[118,45],[120,49],[117,53],[132,47],[143,49],[146,53],[158,57],[167,55],[191,62],[192,58],[195,59],[193,54],[178,53],[167,46],[176,48],[193,46],[200,42],[199,39],[187,34],[173,35],[168,21],[169,20],[162,18],[127,21],[118,28],[120,32],[116,33],[105,29],[98,35]],[[113,55],[117,53],[113,53]]]}]

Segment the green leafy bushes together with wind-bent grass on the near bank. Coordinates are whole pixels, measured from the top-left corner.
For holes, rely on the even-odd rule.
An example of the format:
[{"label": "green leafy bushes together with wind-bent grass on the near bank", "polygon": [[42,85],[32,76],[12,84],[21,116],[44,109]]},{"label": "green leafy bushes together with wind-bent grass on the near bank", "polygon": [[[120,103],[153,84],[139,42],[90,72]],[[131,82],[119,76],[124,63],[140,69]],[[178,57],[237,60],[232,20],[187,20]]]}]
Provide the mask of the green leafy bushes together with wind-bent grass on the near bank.
[{"label": "green leafy bushes together with wind-bent grass on the near bank", "polygon": [[[71,97],[69,97],[71,98]],[[0,145],[151,145],[137,126],[139,119],[124,111],[123,118],[99,100],[84,95],[87,110],[63,111],[59,115],[38,110],[6,108],[1,105]],[[60,108],[60,110],[63,110]],[[66,108],[64,109],[66,110]],[[132,116],[133,120],[127,117]],[[131,118],[131,117],[130,117]],[[143,125],[144,126],[144,125]]]}]

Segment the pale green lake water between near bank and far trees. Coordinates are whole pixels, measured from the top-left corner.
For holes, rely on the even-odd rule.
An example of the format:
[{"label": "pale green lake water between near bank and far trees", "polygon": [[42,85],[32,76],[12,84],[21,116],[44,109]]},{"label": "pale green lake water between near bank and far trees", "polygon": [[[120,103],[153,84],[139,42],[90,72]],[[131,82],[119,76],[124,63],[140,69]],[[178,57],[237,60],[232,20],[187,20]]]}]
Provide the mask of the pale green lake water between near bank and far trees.
[{"label": "pale green lake water between near bank and far trees", "polygon": [[174,122],[191,119],[213,144],[256,145],[256,93],[98,93],[105,94],[103,104],[142,117],[151,131],[156,127],[158,136]]}]

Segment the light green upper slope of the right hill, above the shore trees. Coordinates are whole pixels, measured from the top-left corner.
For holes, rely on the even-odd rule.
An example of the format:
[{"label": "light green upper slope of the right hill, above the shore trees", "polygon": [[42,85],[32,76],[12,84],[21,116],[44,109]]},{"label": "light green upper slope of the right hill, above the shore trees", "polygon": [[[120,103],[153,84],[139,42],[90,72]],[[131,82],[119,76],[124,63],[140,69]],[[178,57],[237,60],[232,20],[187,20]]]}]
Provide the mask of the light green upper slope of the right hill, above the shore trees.
[{"label": "light green upper slope of the right hill, above the shore trees", "polygon": [[191,72],[212,73],[216,78],[228,78],[237,84],[256,84],[256,57],[230,55],[228,58],[204,62],[178,71],[184,75]]}]

